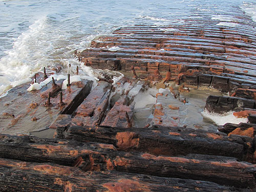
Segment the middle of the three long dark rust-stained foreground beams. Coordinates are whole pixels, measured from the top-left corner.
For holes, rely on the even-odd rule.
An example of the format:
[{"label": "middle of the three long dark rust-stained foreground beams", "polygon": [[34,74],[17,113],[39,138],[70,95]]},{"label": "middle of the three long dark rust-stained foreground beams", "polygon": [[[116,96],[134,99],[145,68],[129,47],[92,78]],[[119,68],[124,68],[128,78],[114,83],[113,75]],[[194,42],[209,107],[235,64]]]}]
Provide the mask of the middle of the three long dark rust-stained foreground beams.
[{"label": "middle of the three long dark rust-stained foreground beams", "polygon": [[[113,145],[2,136],[0,157],[32,162],[53,162],[84,171],[118,170],[160,177],[213,181],[236,187],[255,187],[256,168],[234,158],[206,155],[154,156],[117,152]],[[9,152],[9,153],[7,153]]]}]

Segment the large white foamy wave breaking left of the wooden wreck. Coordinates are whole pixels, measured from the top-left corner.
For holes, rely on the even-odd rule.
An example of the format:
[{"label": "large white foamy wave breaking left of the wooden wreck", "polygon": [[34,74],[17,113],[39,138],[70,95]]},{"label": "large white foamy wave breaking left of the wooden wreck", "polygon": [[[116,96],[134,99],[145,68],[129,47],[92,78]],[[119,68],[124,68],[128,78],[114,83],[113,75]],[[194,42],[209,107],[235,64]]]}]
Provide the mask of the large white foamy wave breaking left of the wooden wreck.
[{"label": "large white foamy wave breaking left of the wooden wreck", "polygon": [[28,31],[16,39],[13,48],[6,51],[7,55],[0,60],[0,75],[5,78],[0,81],[0,94],[10,84],[12,87],[17,86],[48,63],[44,57],[52,46],[47,39],[44,39],[46,19],[47,17],[42,17],[31,25]]}]

